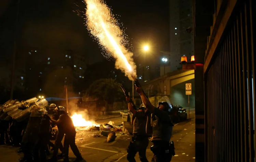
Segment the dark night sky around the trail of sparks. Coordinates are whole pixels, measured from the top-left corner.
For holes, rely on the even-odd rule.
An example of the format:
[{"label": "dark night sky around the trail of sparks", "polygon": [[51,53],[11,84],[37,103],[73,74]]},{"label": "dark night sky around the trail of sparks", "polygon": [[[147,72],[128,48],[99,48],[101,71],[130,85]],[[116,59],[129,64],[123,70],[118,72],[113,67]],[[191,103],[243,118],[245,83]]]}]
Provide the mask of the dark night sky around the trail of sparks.
[{"label": "dark night sky around the trail of sparks", "polygon": [[[12,53],[17,1],[0,2],[0,57]],[[125,33],[138,58],[145,44],[151,47],[153,55],[160,50],[169,51],[169,4],[167,0],[164,1],[105,1],[114,15],[120,15],[116,18],[127,28]],[[91,63],[104,59],[101,48],[89,36],[83,18],[73,12],[84,12],[84,8],[81,0],[20,0],[17,49],[71,49],[89,56]]]}]

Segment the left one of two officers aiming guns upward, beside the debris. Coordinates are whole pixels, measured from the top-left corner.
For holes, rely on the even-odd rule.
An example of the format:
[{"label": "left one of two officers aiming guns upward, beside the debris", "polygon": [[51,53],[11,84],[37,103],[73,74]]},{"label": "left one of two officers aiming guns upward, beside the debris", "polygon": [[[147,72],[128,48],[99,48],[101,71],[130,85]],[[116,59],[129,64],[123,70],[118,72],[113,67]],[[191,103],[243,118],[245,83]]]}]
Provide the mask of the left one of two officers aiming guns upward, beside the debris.
[{"label": "left one of two officers aiming guns upward, beside the debris", "polygon": [[146,133],[147,114],[145,113],[145,106],[142,104],[138,111],[130,96],[126,96],[128,102],[128,109],[135,116],[133,120],[133,137],[132,142],[127,149],[127,160],[129,162],[136,162],[134,159],[137,152],[139,152],[140,161],[148,162],[146,158],[146,149],[148,146],[148,135]]}]

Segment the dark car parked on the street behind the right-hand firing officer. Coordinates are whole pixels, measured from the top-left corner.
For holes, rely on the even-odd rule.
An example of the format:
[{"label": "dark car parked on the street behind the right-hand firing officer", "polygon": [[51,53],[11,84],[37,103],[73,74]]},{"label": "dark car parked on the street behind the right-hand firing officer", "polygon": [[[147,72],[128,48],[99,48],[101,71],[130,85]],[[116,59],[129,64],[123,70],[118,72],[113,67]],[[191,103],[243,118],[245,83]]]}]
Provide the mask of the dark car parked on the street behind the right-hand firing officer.
[{"label": "dark car parked on the street behind the right-hand firing officer", "polygon": [[187,120],[187,111],[180,105],[175,105],[172,107],[171,117],[173,123],[179,123],[180,121]]}]

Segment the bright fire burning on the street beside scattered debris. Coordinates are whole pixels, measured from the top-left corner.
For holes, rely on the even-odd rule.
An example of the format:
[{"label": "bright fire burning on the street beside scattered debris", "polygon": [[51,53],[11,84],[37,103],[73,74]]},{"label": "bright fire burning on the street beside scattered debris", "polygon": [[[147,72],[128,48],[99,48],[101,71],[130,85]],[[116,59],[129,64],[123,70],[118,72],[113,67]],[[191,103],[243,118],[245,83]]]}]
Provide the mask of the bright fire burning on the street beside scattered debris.
[{"label": "bright fire burning on the street beside scattered debris", "polygon": [[95,122],[93,121],[87,121],[85,120],[81,114],[76,114],[74,113],[72,116],[71,116],[71,119],[73,121],[73,124],[75,127],[84,127],[84,129],[89,129],[91,127],[99,127],[100,125],[99,124],[96,124]]}]

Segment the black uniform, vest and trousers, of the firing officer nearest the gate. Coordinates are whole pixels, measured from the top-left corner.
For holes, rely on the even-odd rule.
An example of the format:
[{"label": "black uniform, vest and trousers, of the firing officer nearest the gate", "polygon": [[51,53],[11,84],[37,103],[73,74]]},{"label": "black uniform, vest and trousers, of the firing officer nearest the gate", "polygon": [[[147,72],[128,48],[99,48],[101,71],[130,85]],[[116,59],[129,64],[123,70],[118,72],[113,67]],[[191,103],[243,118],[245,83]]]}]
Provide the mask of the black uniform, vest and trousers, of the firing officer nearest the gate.
[{"label": "black uniform, vest and trousers, of the firing officer nearest the gate", "polygon": [[151,126],[153,127],[151,147],[154,156],[151,162],[170,162],[174,146],[170,145],[172,135],[172,120],[167,111],[155,108],[151,115]]}]

